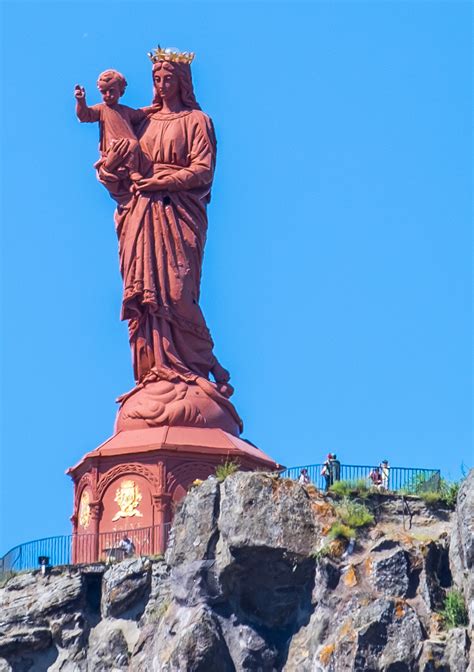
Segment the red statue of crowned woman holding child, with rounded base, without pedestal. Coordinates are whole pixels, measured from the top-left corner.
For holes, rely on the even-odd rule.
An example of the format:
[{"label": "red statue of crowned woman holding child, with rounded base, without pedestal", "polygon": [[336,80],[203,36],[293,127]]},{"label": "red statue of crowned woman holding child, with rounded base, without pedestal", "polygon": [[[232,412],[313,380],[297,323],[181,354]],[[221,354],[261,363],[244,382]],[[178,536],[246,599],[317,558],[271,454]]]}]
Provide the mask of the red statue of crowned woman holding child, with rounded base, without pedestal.
[{"label": "red statue of crowned woman holding child, with rounded base, without pedestal", "polygon": [[126,80],[108,70],[98,80],[104,102],[88,107],[77,85],[76,111],[80,121],[100,124],[95,167],[118,204],[122,319],[136,387],[119,400],[117,429],[191,425],[238,435],[229,373],[214,355],[199,307],[216,139],[194,96],[193,56],[150,54],[150,107],[121,105]]}]

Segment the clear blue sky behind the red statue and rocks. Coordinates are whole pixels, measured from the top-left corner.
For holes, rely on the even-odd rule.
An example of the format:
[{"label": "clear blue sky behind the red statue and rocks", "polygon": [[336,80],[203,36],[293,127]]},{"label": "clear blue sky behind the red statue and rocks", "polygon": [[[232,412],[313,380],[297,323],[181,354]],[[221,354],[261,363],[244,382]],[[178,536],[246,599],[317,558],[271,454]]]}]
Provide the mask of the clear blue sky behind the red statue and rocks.
[{"label": "clear blue sky behind the red statue and rocks", "polygon": [[276,460],[472,463],[469,2],[4,3],[0,554],[70,530],[65,469],[133,385],[113,201],[73,87],[197,53],[218,136],[202,305]]}]

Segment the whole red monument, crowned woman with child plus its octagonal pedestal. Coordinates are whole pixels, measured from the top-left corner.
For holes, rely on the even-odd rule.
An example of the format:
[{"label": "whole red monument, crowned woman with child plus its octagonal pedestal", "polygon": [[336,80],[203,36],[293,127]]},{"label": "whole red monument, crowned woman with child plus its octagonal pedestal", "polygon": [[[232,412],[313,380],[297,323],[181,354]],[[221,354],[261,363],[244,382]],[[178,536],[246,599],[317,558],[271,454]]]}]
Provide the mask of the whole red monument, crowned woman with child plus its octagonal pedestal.
[{"label": "whole red monument, crowned woman with child plus its octagonal pedestal", "polygon": [[280,468],[239,438],[229,373],[199,307],[216,140],[194,97],[193,54],[157,49],[150,57],[150,107],[119,103],[127,83],[116,70],[99,76],[99,105],[88,107],[84,89],[75,90],[79,120],[99,123],[95,167],[117,202],[122,319],[136,381],[119,400],[115,434],[67,472],[81,562],[103,558],[125,532],[139,552],[162,552],[172,502],[226,460]]}]

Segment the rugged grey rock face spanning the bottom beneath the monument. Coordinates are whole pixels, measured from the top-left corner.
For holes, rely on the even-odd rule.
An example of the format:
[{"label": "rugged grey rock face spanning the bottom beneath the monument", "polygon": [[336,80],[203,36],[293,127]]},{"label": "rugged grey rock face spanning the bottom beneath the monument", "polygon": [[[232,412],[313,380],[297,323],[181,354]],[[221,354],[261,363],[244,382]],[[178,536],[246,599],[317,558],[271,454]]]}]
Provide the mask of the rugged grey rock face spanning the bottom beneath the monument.
[{"label": "rugged grey rock face spanning the bottom beneath the monument", "polygon": [[0,672],[466,672],[469,631],[443,630],[436,610],[454,583],[473,617],[473,491],[474,472],[452,514],[369,501],[377,524],[346,548],[311,486],[208,479],[165,559],[11,578]]}]

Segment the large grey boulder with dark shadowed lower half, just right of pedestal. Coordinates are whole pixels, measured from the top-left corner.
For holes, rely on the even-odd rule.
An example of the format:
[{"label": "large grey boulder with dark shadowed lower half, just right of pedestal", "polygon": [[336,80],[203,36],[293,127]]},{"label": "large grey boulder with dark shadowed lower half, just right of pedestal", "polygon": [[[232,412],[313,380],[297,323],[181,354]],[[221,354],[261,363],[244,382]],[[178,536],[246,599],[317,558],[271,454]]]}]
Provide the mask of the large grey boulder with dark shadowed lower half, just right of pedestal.
[{"label": "large grey boulder with dark shadowed lower half, just right of pedestal", "polygon": [[234,613],[266,628],[309,619],[317,526],[305,489],[239,472],[222,486],[215,575]]}]

